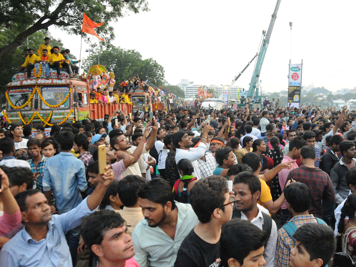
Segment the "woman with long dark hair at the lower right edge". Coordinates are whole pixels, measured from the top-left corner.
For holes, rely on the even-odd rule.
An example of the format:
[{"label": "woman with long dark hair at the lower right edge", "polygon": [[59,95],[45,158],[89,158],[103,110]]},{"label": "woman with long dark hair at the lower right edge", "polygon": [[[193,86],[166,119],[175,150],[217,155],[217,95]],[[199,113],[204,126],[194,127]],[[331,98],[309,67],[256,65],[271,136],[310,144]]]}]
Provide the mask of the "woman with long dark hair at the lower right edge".
[{"label": "woman with long dark hair at the lower right edge", "polygon": [[[356,194],[347,197],[337,226],[336,252],[346,252],[356,262]],[[346,219],[346,216],[349,219]],[[346,251],[344,250],[346,244]]]}]

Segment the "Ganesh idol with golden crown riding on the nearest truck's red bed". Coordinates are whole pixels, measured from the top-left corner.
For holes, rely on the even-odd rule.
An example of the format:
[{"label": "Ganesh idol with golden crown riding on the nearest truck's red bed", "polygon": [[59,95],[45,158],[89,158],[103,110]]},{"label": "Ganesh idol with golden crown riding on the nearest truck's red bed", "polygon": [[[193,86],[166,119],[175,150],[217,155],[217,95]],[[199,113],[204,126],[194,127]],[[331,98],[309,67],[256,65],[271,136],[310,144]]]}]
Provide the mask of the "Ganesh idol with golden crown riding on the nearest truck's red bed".
[{"label": "Ganesh idol with golden crown riding on the nearest truck's red bed", "polygon": [[112,92],[115,85],[114,74],[110,72],[106,73],[106,68],[103,65],[94,65],[89,68],[89,74],[87,75],[87,81],[90,90],[97,91],[103,90],[107,84],[109,84],[109,91]]}]

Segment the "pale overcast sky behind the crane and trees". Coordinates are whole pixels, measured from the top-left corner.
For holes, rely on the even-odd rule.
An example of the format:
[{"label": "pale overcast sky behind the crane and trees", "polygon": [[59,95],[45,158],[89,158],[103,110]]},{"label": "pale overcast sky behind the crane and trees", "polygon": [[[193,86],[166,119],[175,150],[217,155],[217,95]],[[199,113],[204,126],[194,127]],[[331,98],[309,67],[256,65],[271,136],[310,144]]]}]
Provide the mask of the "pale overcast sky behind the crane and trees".
[{"label": "pale overcast sky behind the crane and trees", "polygon": [[[112,44],[155,59],[171,84],[189,79],[220,85],[230,84],[257,52],[276,0],[148,0],[148,6],[149,12],[112,23],[116,35]],[[313,82],[331,91],[356,87],[355,9],[353,0],[282,0],[261,70],[262,90],[277,92],[288,87],[289,21],[293,22],[292,63],[303,59],[302,85]],[[80,37],[54,26],[49,31],[79,58]],[[135,31],[142,33],[138,39]],[[99,42],[95,39],[92,42]],[[88,56],[85,48],[88,44],[83,42],[82,58]],[[253,64],[235,85],[248,88],[252,72]]]}]

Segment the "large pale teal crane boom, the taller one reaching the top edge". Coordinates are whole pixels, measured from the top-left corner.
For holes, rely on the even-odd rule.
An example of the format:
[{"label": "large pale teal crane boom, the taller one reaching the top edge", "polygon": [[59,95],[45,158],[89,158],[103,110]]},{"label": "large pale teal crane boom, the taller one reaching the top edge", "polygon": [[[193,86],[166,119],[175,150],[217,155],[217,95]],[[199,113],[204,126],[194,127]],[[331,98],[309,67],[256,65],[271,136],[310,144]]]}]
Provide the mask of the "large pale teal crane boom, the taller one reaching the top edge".
[{"label": "large pale teal crane boom, the taller one reaching the top edge", "polygon": [[[251,78],[250,88],[248,88],[248,92],[247,92],[247,96],[250,96],[251,98],[252,98],[253,94],[255,93],[256,87],[258,86],[258,80],[260,79],[260,73],[261,73],[263,60],[265,59],[267,47],[269,44],[269,39],[271,38],[274,22],[276,21],[279,4],[281,4],[281,0],[277,0],[277,4],[276,4],[276,7],[274,8],[274,12],[272,14],[271,22],[269,23],[269,27],[268,27],[266,36],[263,39],[260,53],[258,53],[257,64],[256,64],[255,71],[253,72],[253,75]],[[258,88],[256,89],[256,95],[258,95]]]}]

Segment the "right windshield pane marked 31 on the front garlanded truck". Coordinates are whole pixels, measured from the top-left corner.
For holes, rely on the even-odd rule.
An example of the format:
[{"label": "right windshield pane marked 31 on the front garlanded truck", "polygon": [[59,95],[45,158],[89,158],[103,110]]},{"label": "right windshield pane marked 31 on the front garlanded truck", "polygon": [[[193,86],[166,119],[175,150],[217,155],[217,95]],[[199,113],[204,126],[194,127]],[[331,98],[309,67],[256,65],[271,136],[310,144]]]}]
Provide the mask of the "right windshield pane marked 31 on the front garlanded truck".
[{"label": "right windshield pane marked 31 on the front garlanded truck", "polygon": [[[64,98],[69,93],[69,87],[66,86],[61,86],[61,87],[42,87],[41,89],[41,94],[43,99],[49,104],[49,105],[57,105],[61,103]],[[62,104],[59,106],[57,109],[68,109],[69,108],[69,101],[70,97]],[[47,106],[43,101],[41,101],[41,109],[51,109],[51,107]]]}]

